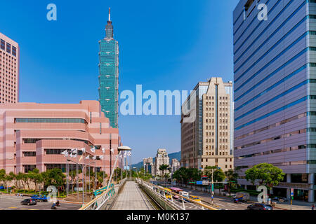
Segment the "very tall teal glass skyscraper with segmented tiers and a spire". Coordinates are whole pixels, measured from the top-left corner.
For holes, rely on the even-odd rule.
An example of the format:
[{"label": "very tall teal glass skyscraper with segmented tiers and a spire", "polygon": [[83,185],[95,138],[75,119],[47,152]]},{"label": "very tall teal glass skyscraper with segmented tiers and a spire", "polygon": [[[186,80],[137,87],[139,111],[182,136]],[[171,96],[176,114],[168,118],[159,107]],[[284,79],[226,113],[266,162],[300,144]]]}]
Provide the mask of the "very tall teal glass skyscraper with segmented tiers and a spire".
[{"label": "very tall teal glass skyscraper with segmented tiers and a spire", "polygon": [[110,119],[110,126],[118,127],[119,119],[119,43],[113,38],[113,25],[109,9],[106,36],[99,41],[99,102],[102,112]]}]

